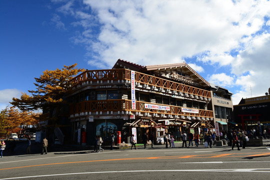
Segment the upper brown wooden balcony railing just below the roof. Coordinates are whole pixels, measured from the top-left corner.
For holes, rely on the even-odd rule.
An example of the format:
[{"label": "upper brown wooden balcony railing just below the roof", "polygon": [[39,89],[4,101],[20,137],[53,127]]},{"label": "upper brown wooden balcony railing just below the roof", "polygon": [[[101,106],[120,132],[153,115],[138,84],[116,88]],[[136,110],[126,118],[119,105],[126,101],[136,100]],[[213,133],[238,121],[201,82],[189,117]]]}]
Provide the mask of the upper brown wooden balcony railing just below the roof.
[{"label": "upper brown wooden balcony railing just below the roof", "polygon": [[[86,82],[96,82],[107,80],[127,80],[130,81],[131,70],[129,69],[106,69],[106,70],[86,70],[81,74],[74,77],[71,82],[73,85],[84,84]],[[193,96],[200,96],[204,100],[211,98],[211,93],[208,90],[196,88],[190,85],[185,85],[175,81],[170,81],[160,77],[135,72],[135,82],[141,85],[147,84],[148,86],[154,86],[156,88],[163,88],[169,90],[175,90],[177,93],[186,93]]]}]

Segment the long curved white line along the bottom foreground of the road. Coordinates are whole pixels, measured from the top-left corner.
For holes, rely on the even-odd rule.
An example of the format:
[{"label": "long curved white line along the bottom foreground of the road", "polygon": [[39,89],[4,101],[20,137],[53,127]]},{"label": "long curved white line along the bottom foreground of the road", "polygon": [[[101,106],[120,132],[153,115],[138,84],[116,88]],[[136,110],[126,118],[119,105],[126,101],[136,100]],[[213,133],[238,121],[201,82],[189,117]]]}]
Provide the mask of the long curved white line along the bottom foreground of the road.
[{"label": "long curved white line along the bottom foreground of the road", "polygon": [[74,172],[74,173],[60,173],[60,174],[47,174],[47,175],[32,175],[23,177],[9,177],[1,178],[6,179],[20,179],[20,178],[33,178],[33,177],[48,177],[56,175],[78,175],[78,174],[93,174],[93,173],[126,173],[126,172],[266,172],[270,173],[270,168],[239,168],[239,169],[160,169],[160,170],[119,170],[119,171],[98,171],[98,172]]}]

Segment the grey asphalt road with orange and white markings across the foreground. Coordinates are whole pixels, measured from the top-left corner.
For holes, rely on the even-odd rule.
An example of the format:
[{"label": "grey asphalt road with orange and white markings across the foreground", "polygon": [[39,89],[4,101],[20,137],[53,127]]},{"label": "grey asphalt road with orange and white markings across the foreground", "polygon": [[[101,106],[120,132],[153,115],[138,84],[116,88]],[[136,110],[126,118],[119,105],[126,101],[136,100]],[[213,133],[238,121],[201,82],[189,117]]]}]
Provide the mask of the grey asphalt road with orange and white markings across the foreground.
[{"label": "grey asphalt road with orange and white markings across the foreground", "polygon": [[269,179],[270,147],[71,151],[0,158],[0,179]]}]

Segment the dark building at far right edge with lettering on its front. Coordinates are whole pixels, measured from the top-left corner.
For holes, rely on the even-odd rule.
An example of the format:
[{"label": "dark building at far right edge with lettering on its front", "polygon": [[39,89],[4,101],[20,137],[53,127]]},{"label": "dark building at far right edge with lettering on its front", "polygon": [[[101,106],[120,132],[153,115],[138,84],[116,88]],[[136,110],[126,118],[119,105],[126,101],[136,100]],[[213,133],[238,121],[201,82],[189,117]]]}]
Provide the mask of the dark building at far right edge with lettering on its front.
[{"label": "dark building at far right edge with lettering on its front", "polygon": [[270,127],[270,95],[242,98],[233,106],[235,122],[241,129],[255,129],[257,135]]}]

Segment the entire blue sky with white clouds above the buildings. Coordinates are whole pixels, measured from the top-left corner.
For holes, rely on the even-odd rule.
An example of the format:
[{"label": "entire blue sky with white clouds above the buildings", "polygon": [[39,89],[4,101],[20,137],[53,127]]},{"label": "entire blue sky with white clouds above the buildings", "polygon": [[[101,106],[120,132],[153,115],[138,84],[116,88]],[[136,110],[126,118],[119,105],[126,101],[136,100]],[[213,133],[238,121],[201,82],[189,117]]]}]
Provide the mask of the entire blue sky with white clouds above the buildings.
[{"label": "entire blue sky with white clouds above the buildings", "polygon": [[238,104],[270,87],[269,19],[268,0],[1,0],[0,109],[46,69],[118,58],[186,61]]}]

